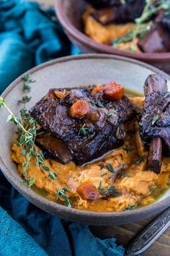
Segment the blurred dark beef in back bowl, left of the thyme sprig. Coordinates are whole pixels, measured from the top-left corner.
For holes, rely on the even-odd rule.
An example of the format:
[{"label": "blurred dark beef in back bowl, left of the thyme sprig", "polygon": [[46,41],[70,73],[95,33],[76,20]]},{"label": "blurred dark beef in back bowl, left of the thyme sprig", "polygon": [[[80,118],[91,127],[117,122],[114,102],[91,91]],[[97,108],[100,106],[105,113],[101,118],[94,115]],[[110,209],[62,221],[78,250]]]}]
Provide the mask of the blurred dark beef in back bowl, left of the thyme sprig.
[{"label": "blurred dark beef in back bowl, left of the thyme sprig", "polygon": [[146,0],[131,0],[127,4],[113,6],[110,8],[95,10],[91,15],[102,25],[110,22],[126,23],[132,22],[140,17],[145,7]]}]

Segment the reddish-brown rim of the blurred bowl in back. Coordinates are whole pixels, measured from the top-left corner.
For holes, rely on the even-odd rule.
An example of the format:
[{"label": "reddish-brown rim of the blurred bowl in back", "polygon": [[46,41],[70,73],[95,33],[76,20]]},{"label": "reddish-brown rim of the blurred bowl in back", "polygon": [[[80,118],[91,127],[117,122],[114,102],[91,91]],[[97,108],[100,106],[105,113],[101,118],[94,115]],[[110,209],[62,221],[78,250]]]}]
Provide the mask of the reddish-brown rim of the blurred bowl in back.
[{"label": "reddish-brown rim of the blurred bowl in back", "polygon": [[104,45],[102,43],[97,43],[93,39],[89,38],[84,33],[81,33],[76,27],[69,22],[68,18],[64,13],[63,2],[69,0],[55,0],[55,12],[57,14],[59,22],[64,27],[68,33],[70,33],[73,38],[78,40],[83,46],[92,48],[94,51],[102,52],[104,54],[117,54],[120,56],[127,56],[133,59],[140,59],[141,61],[158,61],[161,62],[164,60],[170,61],[170,52],[167,53],[156,53],[156,54],[147,54],[147,53],[130,53],[129,51],[122,51],[111,46]]}]

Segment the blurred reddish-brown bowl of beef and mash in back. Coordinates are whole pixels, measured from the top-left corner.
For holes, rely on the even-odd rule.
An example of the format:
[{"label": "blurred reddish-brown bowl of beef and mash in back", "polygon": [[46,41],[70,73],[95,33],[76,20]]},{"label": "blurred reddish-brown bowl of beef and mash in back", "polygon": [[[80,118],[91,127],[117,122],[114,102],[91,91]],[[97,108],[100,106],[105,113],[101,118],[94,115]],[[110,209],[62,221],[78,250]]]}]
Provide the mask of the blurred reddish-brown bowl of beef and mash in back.
[{"label": "blurred reddish-brown bowl of beef and mash in back", "polygon": [[169,1],[58,0],[66,34],[84,53],[128,56],[170,73]]}]

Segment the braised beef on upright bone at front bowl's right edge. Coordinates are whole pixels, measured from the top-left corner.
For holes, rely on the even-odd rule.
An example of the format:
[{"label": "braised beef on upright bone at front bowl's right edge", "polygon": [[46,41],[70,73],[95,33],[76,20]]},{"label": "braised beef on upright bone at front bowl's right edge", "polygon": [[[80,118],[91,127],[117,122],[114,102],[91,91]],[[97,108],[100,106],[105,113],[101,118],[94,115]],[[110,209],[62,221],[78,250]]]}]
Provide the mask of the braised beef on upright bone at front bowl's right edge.
[{"label": "braised beef on upright bone at front bowl's right edge", "polygon": [[[160,88],[156,92],[147,91],[147,86]],[[154,85],[155,84],[155,85]],[[160,85],[160,86],[159,86]],[[164,155],[170,155],[170,93],[164,92],[166,80],[158,74],[148,76],[144,87],[146,99],[143,102],[143,116],[140,121],[140,137],[146,145],[160,137]]]}]

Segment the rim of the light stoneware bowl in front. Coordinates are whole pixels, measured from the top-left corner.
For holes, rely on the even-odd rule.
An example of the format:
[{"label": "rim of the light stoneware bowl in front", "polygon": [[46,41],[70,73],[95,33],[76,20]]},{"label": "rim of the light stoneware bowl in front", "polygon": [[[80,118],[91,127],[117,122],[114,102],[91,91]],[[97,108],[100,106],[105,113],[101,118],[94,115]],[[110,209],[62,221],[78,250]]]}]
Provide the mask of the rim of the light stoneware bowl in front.
[{"label": "rim of the light stoneware bowl in front", "polygon": [[[170,80],[169,74],[166,74],[165,72],[162,72],[161,70],[157,69],[156,67],[152,67],[149,64],[145,64],[141,61],[135,60],[135,59],[129,59],[122,56],[114,56],[111,54],[81,54],[81,55],[75,55],[75,56],[66,56],[61,57],[58,59],[54,59],[52,61],[47,61],[43,64],[38,65],[37,67],[33,67],[32,69],[28,70],[27,72],[24,72],[24,74],[32,74],[34,72],[37,72],[39,69],[44,69],[45,67],[49,67],[53,64],[60,64],[63,62],[68,61],[79,61],[81,59],[115,59],[120,61],[125,61],[128,63],[138,64],[141,67],[145,67],[146,69],[151,69],[153,72],[157,72],[161,75],[164,75],[168,80]],[[9,87],[4,90],[4,93],[1,94],[3,98],[8,95],[11,90],[15,87],[17,87],[18,83],[22,81],[23,75],[20,75],[14,82],[12,82]],[[6,167],[3,159],[0,155],[0,170],[6,177],[6,179],[22,194],[24,197],[27,197],[30,202],[41,208],[42,210],[45,210],[49,213],[55,214],[59,217],[64,217],[66,219],[73,219],[76,221],[76,218],[78,216],[78,222],[84,223],[84,221],[79,221],[79,216],[81,218],[84,218],[85,223],[90,223],[93,225],[99,226],[99,225],[105,225],[106,223],[115,223],[115,218],[121,219],[121,218],[128,218],[127,220],[120,221],[120,223],[130,223],[132,220],[138,221],[140,219],[143,219],[143,216],[149,217],[153,216],[153,214],[156,214],[160,212],[161,210],[164,210],[170,205],[170,197],[164,198],[161,201],[153,203],[153,205],[148,205],[143,208],[138,208],[135,210],[127,210],[122,212],[112,212],[112,213],[104,213],[104,212],[94,212],[89,210],[78,210],[75,208],[67,208],[64,205],[60,205],[57,202],[52,202],[45,197],[41,197],[40,195],[36,194],[36,192],[33,192],[32,189],[29,189],[21,184],[19,179],[17,179],[10,171],[9,168]],[[48,211],[49,208],[49,211]],[[145,218],[145,217],[144,217]],[[95,221],[94,221],[95,219]],[[89,220],[89,221],[86,221]],[[119,222],[119,221],[118,221]],[[117,223],[117,221],[116,221]]]}]

